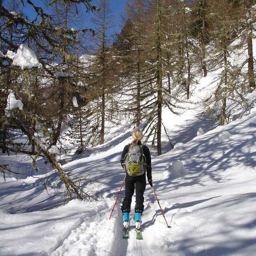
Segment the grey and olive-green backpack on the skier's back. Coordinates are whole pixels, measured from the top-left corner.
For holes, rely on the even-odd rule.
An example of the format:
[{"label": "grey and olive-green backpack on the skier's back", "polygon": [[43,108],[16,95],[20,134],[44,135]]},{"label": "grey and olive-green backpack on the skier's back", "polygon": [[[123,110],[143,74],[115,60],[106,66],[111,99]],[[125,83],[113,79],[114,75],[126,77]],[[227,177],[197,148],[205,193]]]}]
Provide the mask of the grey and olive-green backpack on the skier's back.
[{"label": "grey and olive-green backpack on the skier's back", "polygon": [[146,169],[147,162],[143,154],[143,146],[131,145],[124,157],[124,170],[130,176],[139,176],[144,174]]}]

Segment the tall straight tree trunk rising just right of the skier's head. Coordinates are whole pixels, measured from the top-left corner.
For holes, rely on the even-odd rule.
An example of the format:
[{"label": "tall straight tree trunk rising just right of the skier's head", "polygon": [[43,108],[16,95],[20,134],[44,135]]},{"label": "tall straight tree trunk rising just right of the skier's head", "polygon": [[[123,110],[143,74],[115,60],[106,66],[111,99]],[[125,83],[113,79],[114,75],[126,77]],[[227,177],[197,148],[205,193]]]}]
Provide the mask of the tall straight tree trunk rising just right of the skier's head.
[{"label": "tall straight tree trunk rising just right of the skier's head", "polygon": [[161,148],[161,127],[162,127],[162,48],[161,48],[161,29],[162,29],[162,20],[161,20],[161,9],[160,9],[160,0],[157,2],[157,154],[158,156],[162,155]]}]

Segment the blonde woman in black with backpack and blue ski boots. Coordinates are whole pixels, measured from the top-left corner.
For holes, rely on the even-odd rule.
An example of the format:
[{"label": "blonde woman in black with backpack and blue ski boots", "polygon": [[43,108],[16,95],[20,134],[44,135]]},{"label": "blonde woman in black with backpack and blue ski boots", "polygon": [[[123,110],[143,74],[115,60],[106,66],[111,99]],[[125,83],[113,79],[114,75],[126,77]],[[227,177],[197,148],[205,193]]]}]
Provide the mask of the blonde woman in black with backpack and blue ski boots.
[{"label": "blonde woman in black with backpack and blue ski boots", "polygon": [[[134,222],[136,231],[140,231],[141,217],[144,210],[144,191],[146,188],[146,174],[148,183],[153,186],[151,156],[149,148],[142,145],[143,133],[140,129],[132,132],[133,142],[124,147],[121,157],[121,164],[126,171],[125,178],[125,197],[122,204],[122,215],[124,231],[128,230],[130,221],[130,210],[134,188],[136,191],[136,204]],[[137,165],[136,165],[137,164]]]}]

